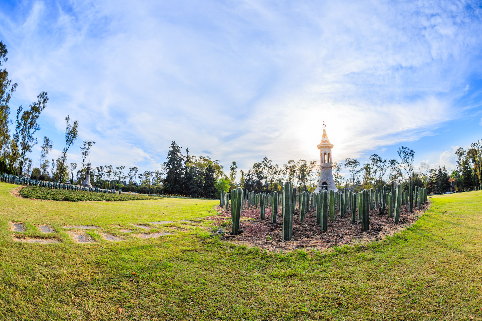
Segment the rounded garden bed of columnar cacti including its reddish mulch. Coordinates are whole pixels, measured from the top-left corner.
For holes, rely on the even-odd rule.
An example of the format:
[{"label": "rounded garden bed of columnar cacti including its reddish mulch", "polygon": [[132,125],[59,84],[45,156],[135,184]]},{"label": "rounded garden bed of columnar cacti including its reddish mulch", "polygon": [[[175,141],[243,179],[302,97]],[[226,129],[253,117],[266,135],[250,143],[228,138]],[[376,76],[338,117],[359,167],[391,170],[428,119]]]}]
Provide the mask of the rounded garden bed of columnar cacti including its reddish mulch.
[{"label": "rounded garden bed of columnar cacti including its reddish mulch", "polygon": [[[243,200],[241,222],[239,214],[236,216],[237,229],[243,232],[231,233],[232,227],[227,228],[222,234],[222,239],[237,244],[258,246],[269,251],[321,249],[344,244],[369,243],[385,239],[415,223],[429,206],[424,190],[420,189],[416,206],[410,212],[408,202],[402,205],[402,197],[408,191],[403,191],[400,184],[394,186],[394,197],[387,192],[387,188],[380,192],[365,190],[361,193],[352,193],[345,189],[343,193],[322,191],[311,195],[306,192],[296,193],[288,182],[285,188],[290,191],[289,197],[285,197],[285,203],[282,203],[283,199],[278,199],[276,204],[276,196],[248,192],[253,201]],[[281,194],[286,196],[284,192]],[[348,205],[351,199],[355,201],[355,207]],[[386,199],[388,202],[377,201]],[[395,201],[392,202],[392,199]],[[228,198],[221,202],[222,204],[216,206],[221,215],[210,217],[215,220],[216,227],[226,226],[232,217]],[[258,204],[255,204],[256,202]],[[239,203],[235,204],[239,212]],[[276,216],[273,214],[274,204],[274,207],[277,207]],[[283,211],[284,208],[289,208],[290,213]]]}]

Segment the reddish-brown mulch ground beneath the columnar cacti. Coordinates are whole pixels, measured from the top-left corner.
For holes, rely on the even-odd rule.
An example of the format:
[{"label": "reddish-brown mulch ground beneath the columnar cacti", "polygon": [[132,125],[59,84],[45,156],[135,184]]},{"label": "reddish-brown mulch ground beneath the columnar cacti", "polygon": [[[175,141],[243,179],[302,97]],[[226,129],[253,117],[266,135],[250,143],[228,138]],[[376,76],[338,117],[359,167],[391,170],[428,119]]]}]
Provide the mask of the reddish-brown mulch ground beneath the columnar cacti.
[{"label": "reddish-brown mulch ground beneath the columnar cacti", "polygon": [[[215,209],[219,215],[207,217],[205,219],[214,220],[216,227],[225,227],[225,233],[221,236],[222,240],[227,240],[236,244],[246,244],[248,246],[257,246],[268,251],[289,251],[299,248],[304,249],[322,249],[332,246],[340,246],[345,244],[369,243],[379,241],[386,235],[403,230],[407,226],[412,225],[425,210],[430,203],[425,203],[421,209],[414,207],[414,212],[408,212],[408,205],[402,206],[400,213],[400,222],[393,222],[393,218],[388,217],[388,208],[385,215],[380,216],[378,209],[370,211],[370,230],[362,231],[362,222],[358,220],[351,222],[351,212],[340,217],[339,211],[336,210],[335,221],[328,221],[328,231],[323,232],[319,225],[316,224],[316,209],[309,210],[305,215],[305,221],[299,220],[299,209],[296,208],[293,216],[293,238],[291,241],[282,241],[282,213],[281,206],[278,208],[277,223],[271,224],[271,207],[266,208],[266,219],[261,221],[259,208],[250,207],[241,211],[240,228],[244,230],[239,235],[229,235],[231,229],[230,219],[231,212],[216,205]],[[228,224],[226,226],[226,224]]]}]

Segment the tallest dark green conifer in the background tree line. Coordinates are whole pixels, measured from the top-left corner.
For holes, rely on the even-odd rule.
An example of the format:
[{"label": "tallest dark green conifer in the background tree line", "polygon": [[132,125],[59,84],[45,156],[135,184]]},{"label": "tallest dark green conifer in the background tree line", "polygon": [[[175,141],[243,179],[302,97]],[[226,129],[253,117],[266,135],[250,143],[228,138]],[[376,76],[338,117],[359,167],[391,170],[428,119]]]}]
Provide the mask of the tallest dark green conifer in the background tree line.
[{"label": "tallest dark green conifer in the background tree line", "polygon": [[182,194],[183,193],[183,177],[182,177],[182,154],[181,146],[175,141],[171,143],[167,160],[164,162],[164,168],[167,170],[166,178],[163,181],[162,192],[164,194]]}]

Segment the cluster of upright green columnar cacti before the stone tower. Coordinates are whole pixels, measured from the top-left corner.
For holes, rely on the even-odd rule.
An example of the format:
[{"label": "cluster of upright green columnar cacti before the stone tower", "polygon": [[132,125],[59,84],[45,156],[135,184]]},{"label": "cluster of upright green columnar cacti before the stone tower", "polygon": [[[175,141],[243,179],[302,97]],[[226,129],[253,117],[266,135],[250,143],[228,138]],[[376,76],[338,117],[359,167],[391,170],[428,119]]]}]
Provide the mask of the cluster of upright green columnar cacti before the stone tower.
[{"label": "cluster of upright green columnar cacti before the stone tower", "polygon": [[[233,224],[232,232],[234,235],[241,233],[240,219],[243,204],[250,206],[260,206],[261,219],[265,219],[265,208],[271,205],[271,223],[277,223],[278,205],[282,208],[282,238],[289,241],[292,238],[293,215],[295,214],[296,201],[299,202],[299,220],[305,220],[305,214],[309,209],[316,208],[316,221],[320,225],[323,232],[327,231],[328,217],[330,221],[335,221],[335,207],[338,207],[340,216],[343,217],[348,211],[351,211],[351,221],[353,223],[358,219],[362,222],[362,230],[368,231],[370,228],[369,211],[378,207],[381,215],[385,214],[385,206],[388,205],[388,217],[394,222],[399,222],[401,206],[409,204],[409,211],[413,212],[413,204],[420,208],[421,204],[427,202],[427,189],[413,189],[413,182],[409,183],[409,190],[402,190],[402,185],[391,184],[388,192],[387,186],[380,191],[378,189],[363,190],[354,193],[347,188],[343,192],[335,193],[331,191],[320,191],[320,193],[297,193],[289,181],[283,186],[283,192],[279,197],[278,192],[271,194],[245,192],[239,187],[231,191],[231,194],[221,192],[220,205],[226,206],[228,210],[229,198],[231,199],[231,220]],[[244,195],[243,195],[244,194]],[[229,197],[230,196],[230,197]],[[395,213],[393,213],[393,210]],[[394,214],[394,215],[393,215]]]}]

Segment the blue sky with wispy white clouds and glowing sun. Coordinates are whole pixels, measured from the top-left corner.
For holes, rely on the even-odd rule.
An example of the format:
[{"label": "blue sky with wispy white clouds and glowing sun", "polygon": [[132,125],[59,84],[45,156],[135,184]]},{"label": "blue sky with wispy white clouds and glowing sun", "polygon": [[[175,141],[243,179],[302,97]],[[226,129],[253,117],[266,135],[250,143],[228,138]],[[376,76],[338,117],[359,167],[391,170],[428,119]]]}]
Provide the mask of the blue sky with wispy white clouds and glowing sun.
[{"label": "blue sky with wispy white clouds and glowing sun", "polygon": [[[415,151],[455,166],[482,139],[482,7],[472,1],[0,1],[12,109],[44,90],[69,161],[157,169],[171,140],[226,167]],[[31,158],[38,160],[40,146]]]}]

